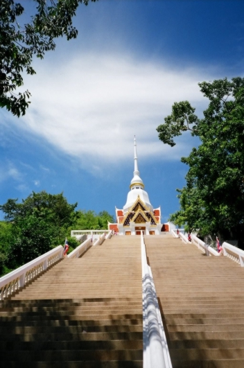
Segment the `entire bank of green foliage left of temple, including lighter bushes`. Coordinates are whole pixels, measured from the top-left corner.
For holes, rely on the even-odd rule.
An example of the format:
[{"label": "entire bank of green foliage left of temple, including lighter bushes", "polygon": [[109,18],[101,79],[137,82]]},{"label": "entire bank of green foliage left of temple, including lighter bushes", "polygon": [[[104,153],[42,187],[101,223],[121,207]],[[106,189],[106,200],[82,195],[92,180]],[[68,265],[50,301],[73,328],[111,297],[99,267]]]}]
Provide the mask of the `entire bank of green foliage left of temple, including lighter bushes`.
[{"label": "entire bank of green foliage left of temple, including lighter bushes", "polygon": [[0,274],[35,259],[69,240],[69,251],[79,243],[71,229],[107,229],[114,218],[107,211],[76,211],[63,193],[31,193],[25,200],[9,199],[0,205],[5,221],[0,222]]}]

